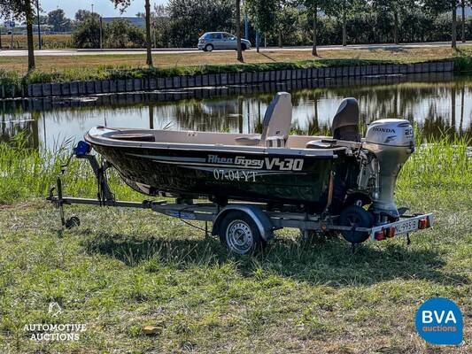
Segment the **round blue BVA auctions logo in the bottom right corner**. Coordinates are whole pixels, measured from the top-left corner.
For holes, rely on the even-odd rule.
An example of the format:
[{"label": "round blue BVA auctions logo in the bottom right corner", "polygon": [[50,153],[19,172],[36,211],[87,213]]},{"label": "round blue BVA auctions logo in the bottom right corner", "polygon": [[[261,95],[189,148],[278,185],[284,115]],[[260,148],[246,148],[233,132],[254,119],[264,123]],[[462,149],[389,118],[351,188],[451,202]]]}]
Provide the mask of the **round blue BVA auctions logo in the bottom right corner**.
[{"label": "round blue BVA auctions logo in the bottom right corner", "polygon": [[416,312],[416,329],[431,344],[456,345],[462,342],[462,314],[459,307],[444,297],[435,297]]}]

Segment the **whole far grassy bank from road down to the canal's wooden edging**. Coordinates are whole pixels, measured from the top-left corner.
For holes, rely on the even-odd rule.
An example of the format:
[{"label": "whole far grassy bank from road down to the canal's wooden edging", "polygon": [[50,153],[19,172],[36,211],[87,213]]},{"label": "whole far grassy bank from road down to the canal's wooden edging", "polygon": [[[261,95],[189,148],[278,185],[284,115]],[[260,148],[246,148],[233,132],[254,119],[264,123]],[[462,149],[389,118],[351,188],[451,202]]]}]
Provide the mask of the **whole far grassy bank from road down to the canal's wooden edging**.
[{"label": "whole far grassy bank from road down to the canal's wooden edging", "polygon": [[296,69],[312,66],[343,66],[417,63],[454,60],[458,71],[472,69],[472,49],[450,48],[320,50],[313,58],[309,50],[244,52],[244,63],[233,52],[159,53],[153,56],[154,68],[145,65],[145,55],[37,56],[36,71],[27,75],[27,58],[0,57],[0,85],[10,87],[28,83],[91,81],[192,75],[197,73],[236,73]]}]

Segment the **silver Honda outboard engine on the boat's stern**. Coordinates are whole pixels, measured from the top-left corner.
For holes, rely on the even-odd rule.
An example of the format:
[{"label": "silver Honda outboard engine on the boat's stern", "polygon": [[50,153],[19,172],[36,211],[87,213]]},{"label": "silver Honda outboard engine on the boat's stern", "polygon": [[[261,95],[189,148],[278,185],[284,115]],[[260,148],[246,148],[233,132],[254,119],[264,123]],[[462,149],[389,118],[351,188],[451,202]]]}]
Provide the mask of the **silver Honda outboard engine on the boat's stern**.
[{"label": "silver Honda outboard engine on the boat's stern", "polygon": [[370,211],[377,222],[398,219],[394,202],[398,173],[414,152],[414,130],[406,119],[380,119],[368,127],[363,149],[370,151],[361,167],[359,185],[370,190]]}]

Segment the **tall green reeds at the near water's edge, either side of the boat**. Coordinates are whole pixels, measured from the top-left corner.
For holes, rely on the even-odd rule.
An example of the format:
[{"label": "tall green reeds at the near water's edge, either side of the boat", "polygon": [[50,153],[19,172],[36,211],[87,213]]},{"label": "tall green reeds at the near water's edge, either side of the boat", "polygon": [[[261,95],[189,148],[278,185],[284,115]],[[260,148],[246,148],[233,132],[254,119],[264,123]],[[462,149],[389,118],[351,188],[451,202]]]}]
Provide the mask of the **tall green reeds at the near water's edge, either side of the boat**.
[{"label": "tall green reeds at the near water's edge, either side of the boat", "polygon": [[[27,136],[15,135],[0,142],[0,203],[12,204],[46,196],[56,184],[61,165],[73,155],[74,142],[56,143],[48,150],[26,147]],[[472,189],[471,141],[444,134],[439,138],[418,135],[417,147],[403,166],[400,189]],[[86,160],[71,158],[62,175],[69,196],[95,197],[97,185]],[[128,188],[114,169],[109,171],[112,190],[120,200],[140,200],[143,195]]]}]

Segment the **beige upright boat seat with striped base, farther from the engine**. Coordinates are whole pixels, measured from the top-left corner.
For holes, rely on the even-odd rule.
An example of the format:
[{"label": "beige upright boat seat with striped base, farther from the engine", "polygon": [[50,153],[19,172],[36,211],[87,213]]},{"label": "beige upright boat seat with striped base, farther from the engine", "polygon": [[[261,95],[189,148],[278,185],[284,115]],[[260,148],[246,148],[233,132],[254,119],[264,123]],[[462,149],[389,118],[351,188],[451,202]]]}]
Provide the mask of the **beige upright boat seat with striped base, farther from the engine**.
[{"label": "beige upright boat seat with striped base, farther from the engine", "polygon": [[236,138],[236,145],[285,146],[291,126],[291,110],[290,94],[277,92],[264,115],[262,134]]}]

